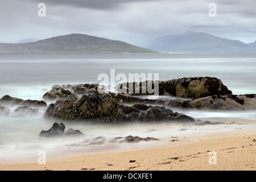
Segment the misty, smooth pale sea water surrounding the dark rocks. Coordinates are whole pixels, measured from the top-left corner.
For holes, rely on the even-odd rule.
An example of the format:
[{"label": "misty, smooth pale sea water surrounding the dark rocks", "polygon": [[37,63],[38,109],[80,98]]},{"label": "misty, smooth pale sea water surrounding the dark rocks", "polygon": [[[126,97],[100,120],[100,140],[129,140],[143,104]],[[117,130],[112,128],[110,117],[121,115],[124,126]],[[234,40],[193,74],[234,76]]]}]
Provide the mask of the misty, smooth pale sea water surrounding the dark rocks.
[{"label": "misty, smooth pale sea water surrounding the dark rocks", "polygon": [[[84,54],[1,54],[0,97],[9,95],[23,100],[43,100],[43,94],[53,85],[99,83],[100,73],[158,73],[159,80],[182,77],[217,77],[233,94],[250,94],[256,90],[255,54],[160,54],[160,53],[84,53]],[[117,81],[118,82],[118,81]],[[175,97],[159,97],[174,100]],[[49,103],[47,103],[49,104]],[[170,107],[173,111],[218,125],[177,123],[130,123],[100,125],[84,122],[63,122],[65,130],[78,129],[83,137],[42,139],[38,135],[48,130],[54,121],[43,118],[44,110],[27,117],[0,117],[0,162],[38,159],[39,151],[47,156],[93,154],[112,150],[160,146],[195,136],[256,129],[253,111],[209,111]],[[14,107],[12,108],[15,109]],[[115,137],[154,137],[157,141],[138,143],[111,142]],[[176,139],[176,138],[175,138]],[[175,143],[175,142],[173,142]]]}]

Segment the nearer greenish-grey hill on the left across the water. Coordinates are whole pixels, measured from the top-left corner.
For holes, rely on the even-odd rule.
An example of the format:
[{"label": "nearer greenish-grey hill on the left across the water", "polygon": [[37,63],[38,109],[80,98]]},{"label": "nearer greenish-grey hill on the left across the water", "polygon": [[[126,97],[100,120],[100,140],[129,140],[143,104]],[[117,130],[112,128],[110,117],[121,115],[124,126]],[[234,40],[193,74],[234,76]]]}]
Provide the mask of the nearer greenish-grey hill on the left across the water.
[{"label": "nearer greenish-grey hill on the left across the water", "polygon": [[84,34],[69,34],[31,43],[0,43],[0,53],[154,52],[131,44]]}]

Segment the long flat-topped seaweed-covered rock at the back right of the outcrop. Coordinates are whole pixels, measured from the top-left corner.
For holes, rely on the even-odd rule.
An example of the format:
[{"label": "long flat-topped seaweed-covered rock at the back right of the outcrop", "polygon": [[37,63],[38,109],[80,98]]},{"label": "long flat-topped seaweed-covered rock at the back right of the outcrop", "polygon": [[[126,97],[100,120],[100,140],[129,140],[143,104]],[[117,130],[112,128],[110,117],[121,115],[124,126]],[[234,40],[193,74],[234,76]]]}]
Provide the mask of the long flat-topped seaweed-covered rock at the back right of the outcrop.
[{"label": "long flat-topped seaweed-covered rock at the back right of the outcrop", "polygon": [[[146,83],[145,83],[146,82]],[[147,85],[148,81],[133,82],[133,94],[132,95],[143,95],[148,94],[142,93],[142,85]],[[159,95],[160,96],[175,96],[185,98],[198,98],[207,97],[214,94],[232,94],[232,92],[222,83],[218,78],[214,77],[189,77],[189,78],[178,78],[168,81],[159,81]],[[125,84],[117,85],[120,90]],[[136,88],[136,86],[139,87]],[[129,92],[129,82],[126,83],[127,93]],[[155,82],[152,82],[152,89],[155,88]],[[137,92],[135,92],[137,90]],[[152,93],[154,94],[154,93]]]}]

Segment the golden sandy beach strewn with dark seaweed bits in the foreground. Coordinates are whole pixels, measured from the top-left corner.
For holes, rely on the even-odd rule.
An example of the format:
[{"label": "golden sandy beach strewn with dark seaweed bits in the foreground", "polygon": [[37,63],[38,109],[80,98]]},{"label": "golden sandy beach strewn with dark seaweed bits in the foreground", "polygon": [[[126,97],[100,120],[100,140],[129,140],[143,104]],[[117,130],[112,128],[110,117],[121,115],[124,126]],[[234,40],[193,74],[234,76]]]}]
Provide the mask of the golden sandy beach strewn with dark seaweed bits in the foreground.
[{"label": "golden sandy beach strewn with dark seaweed bits in the foreground", "polygon": [[[139,150],[62,156],[1,163],[5,171],[255,171],[256,131],[232,131],[200,136],[170,145]],[[174,144],[175,143],[175,144]]]}]

